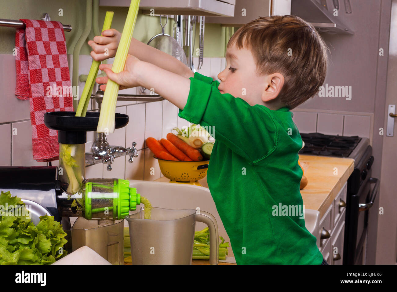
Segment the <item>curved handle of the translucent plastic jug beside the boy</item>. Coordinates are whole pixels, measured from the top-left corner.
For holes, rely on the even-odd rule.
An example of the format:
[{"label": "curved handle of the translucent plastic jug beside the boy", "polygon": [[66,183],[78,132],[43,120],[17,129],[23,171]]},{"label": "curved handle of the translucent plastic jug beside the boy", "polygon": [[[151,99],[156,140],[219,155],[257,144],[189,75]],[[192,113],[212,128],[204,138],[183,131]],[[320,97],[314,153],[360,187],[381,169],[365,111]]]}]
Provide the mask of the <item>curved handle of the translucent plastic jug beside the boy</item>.
[{"label": "curved handle of the translucent plastic jug beside the boy", "polygon": [[197,210],[195,213],[195,221],[207,224],[210,231],[210,265],[218,265],[219,259],[219,235],[218,224],[212,214]]}]

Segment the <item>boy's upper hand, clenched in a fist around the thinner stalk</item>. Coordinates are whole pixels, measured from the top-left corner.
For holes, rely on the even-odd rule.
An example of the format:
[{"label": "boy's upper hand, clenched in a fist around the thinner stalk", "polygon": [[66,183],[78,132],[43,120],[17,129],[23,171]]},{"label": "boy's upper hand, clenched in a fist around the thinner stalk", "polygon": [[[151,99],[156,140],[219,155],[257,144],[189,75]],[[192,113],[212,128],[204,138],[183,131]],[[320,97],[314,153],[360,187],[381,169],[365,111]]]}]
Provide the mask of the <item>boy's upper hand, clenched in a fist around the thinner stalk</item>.
[{"label": "boy's upper hand, clenched in a fist around the thinner stalk", "polygon": [[93,48],[93,51],[91,51],[91,57],[93,57],[95,61],[103,61],[108,58],[113,58],[116,55],[120,38],[121,33],[116,29],[107,29],[106,31],[102,31],[102,36],[97,35],[94,37],[93,41],[88,42],[91,48]]}]

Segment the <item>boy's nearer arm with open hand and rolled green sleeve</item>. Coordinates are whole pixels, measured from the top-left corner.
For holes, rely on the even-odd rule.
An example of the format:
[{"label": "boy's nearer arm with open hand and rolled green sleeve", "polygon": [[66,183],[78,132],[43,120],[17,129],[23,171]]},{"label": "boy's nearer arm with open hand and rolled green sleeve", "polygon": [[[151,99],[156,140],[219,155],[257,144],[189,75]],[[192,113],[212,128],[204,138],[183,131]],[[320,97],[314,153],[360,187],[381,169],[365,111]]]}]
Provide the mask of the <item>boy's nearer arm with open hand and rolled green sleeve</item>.
[{"label": "boy's nearer arm with open hand and rolled green sleeve", "polygon": [[[100,69],[110,65],[100,65]],[[202,126],[214,127],[212,136],[235,153],[255,162],[271,153],[276,147],[278,131],[270,114],[258,106],[251,106],[241,98],[235,98],[218,90],[218,82],[195,73],[185,78],[135,56],[126,60],[125,70],[114,73],[105,70],[108,77],[125,87],[153,88],[175,104],[179,116]],[[105,83],[102,78],[96,82]]]}]

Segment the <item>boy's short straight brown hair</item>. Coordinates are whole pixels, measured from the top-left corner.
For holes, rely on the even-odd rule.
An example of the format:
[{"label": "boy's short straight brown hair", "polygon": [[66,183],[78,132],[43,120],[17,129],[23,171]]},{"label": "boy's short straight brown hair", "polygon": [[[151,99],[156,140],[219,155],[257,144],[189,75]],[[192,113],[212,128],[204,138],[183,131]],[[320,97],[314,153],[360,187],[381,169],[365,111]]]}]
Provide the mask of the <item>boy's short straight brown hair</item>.
[{"label": "boy's short straight brown hair", "polygon": [[227,47],[251,50],[256,75],[281,73],[280,101],[289,109],[313,97],[324,83],[327,46],[316,29],[300,17],[259,17],[240,27]]}]

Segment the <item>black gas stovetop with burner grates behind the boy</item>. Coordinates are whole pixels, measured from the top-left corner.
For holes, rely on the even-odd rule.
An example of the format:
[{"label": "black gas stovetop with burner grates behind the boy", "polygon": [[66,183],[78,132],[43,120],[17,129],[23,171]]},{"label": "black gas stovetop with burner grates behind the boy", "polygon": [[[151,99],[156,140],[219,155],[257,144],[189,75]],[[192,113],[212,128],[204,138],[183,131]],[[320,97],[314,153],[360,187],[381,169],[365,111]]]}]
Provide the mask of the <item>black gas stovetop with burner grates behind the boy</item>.
[{"label": "black gas stovetop with burner grates behind the boy", "polygon": [[304,147],[299,154],[348,157],[357,163],[369,146],[369,139],[358,136],[300,133]]}]

